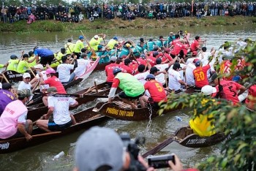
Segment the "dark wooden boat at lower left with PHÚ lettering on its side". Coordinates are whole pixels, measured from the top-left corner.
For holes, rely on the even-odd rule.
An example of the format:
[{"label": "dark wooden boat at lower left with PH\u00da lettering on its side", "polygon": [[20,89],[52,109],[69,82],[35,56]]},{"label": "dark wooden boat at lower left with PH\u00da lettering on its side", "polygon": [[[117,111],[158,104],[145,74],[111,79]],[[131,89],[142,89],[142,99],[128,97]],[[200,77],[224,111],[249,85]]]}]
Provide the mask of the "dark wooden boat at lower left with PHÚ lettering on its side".
[{"label": "dark wooden boat at lower left with PH\u00da lettering on its side", "polygon": [[12,151],[22,150],[23,148],[28,148],[34,145],[42,144],[43,142],[48,142],[54,138],[61,137],[65,134],[71,134],[75,131],[81,129],[89,129],[91,126],[95,126],[102,121],[106,121],[108,117],[94,113],[92,108],[80,111],[74,115],[77,124],[64,129],[62,132],[48,132],[45,133],[41,129],[34,129],[32,132],[32,139],[27,142],[25,137],[18,137],[7,140],[0,140],[0,154],[10,153]]}]

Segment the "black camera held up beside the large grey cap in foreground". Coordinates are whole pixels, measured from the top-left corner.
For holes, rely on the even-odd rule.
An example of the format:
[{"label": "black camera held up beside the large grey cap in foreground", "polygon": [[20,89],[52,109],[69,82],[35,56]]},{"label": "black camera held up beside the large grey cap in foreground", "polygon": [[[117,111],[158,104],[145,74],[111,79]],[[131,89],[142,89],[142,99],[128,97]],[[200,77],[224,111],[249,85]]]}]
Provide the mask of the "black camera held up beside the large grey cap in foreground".
[{"label": "black camera held up beside the large grey cap in foreground", "polygon": [[138,155],[140,152],[138,145],[143,145],[145,143],[145,137],[136,137],[133,141],[127,132],[121,133],[119,136],[124,142],[124,148],[127,149],[127,152],[131,158],[129,169],[126,171],[146,171],[146,167],[144,167],[140,161],[138,161]]}]

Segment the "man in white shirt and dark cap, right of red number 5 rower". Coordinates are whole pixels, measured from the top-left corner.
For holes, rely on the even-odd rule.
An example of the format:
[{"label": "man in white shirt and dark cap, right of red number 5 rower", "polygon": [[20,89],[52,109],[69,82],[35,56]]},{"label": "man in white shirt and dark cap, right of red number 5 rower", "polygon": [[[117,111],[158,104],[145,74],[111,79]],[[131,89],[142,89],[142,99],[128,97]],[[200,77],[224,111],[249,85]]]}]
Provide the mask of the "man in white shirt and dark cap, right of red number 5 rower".
[{"label": "man in white shirt and dark cap, right of red number 5 rower", "polygon": [[187,83],[185,83],[181,79],[181,75],[178,72],[179,69],[181,69],[181,65],[178,63],[173,64],[173,68],[170,67],[168,70],[168,76],[169,76],[169,83],[168,88],[170,91],[175,91],[175,93],[181,92],[181,84],[187,88]]}]

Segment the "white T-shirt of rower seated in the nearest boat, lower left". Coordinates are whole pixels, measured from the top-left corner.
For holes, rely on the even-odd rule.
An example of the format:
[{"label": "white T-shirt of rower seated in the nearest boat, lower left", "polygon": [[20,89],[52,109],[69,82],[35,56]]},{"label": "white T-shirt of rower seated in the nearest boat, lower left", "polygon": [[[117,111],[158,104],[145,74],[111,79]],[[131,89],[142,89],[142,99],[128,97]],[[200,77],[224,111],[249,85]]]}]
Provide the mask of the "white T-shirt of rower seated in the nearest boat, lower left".
[{"label": "white T-shirt of rower seated in the nearest boat, lower left", "polygon": [[53,121],[62,125],[71,121],[69,105],[75,104],[75,99],[71,97],[48,97],[48,107],[53,107]]}]

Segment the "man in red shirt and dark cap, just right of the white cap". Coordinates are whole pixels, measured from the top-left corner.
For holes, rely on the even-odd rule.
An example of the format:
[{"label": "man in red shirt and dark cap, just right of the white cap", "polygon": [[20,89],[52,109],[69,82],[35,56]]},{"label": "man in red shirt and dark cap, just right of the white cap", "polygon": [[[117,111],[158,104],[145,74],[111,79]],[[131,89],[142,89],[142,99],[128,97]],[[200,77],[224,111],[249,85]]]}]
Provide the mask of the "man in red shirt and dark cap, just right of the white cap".
[{"label": "man in red shirt and dark cap, just right of the white cap", "polygon": [[227,99],[227,101],[230,101],[233,104],[238,104],[238,96],[246,91],[244,86],[241,86],[241,84],[234,81],[223,80],[222,78],[219,78],[218,80],[218,75],[216,73],[211,76],[211,79],[214,80],[217,92],[223,91],[223,94],[225,94],[222,98]]}]

